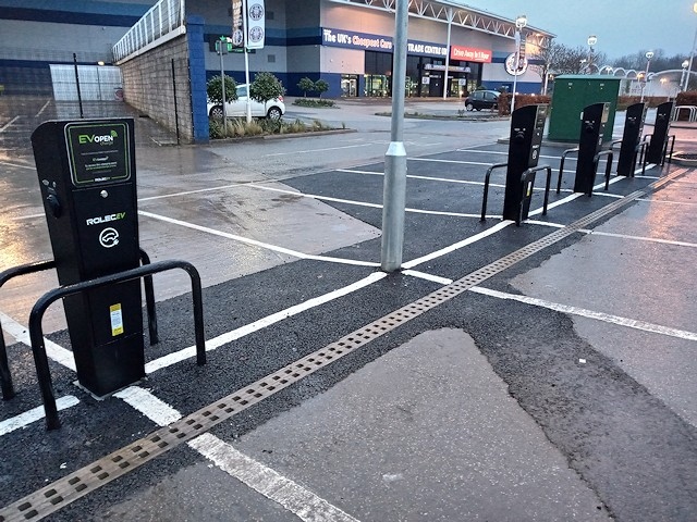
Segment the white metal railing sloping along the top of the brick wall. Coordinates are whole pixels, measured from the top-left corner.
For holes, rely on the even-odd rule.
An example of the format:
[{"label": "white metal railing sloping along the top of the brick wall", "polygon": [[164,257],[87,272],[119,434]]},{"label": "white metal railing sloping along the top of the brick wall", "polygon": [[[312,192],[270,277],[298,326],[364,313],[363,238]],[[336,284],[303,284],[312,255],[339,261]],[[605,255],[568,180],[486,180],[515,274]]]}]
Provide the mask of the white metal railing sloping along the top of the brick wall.
[{"label": "white metal railing sloping along the top of the brick wall", "polygon": [[186,32],[185,0],[160,0],[113,46],[114,62],[137,55]]}]

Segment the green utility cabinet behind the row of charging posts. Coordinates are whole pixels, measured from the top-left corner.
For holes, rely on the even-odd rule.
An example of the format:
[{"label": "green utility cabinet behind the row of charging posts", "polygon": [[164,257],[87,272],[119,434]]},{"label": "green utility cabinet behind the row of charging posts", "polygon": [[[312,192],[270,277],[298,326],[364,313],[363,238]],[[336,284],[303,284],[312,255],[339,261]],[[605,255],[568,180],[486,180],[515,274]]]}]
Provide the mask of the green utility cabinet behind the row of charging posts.
[{"label": "green utility cabinet behind the row of charging posts", "polygon": [[610,103],[610,117],[602,135],[612,140],[621,78],[606,75],[564,74],[554,78],[554,94],[548,138],[553,141],[578,141],[580,114],[594,103]]}]

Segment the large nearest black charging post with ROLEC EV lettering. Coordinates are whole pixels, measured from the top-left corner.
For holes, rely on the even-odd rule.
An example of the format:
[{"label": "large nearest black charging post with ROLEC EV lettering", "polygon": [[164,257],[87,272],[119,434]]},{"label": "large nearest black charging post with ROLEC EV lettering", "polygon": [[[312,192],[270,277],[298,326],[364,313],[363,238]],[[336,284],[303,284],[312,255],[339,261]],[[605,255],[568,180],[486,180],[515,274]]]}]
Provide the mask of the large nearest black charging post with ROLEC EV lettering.
[{"label": "large nearest black charging post with ROLEC EV lettering", "polygon": [[[139,265],[132,119],[46,122],[32,135],[59,283]],[[63,300],[80,383],[97,396],[145,375],[139,281]]]}]

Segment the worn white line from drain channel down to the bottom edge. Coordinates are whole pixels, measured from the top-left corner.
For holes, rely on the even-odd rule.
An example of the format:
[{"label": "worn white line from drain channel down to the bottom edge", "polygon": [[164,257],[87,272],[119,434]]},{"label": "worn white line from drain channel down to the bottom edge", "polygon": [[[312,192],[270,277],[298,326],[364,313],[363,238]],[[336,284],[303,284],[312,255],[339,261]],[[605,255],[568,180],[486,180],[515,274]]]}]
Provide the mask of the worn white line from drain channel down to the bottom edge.
[{"label": "worn white line from drain channel down to the bottom edge", "polygon": [[188,445],[218,468],[305,522],[357,522],[345,511],[208,433]]}]

